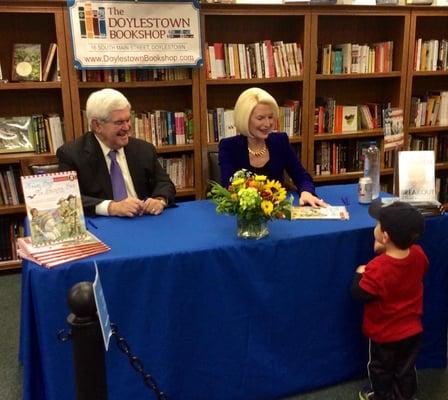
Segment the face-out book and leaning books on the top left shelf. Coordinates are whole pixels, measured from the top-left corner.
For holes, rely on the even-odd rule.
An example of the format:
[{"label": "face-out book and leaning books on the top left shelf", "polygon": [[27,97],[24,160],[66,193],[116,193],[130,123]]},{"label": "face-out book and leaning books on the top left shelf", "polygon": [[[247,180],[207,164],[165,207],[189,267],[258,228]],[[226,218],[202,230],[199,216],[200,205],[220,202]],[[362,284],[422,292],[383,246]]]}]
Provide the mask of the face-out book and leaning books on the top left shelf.
[{"label": "face-out book and leaning books on the top left shelf", "polygon": [[[60,80],[58,46],[50,43],[42,63],[42,46],[39,43],[14,43],[12,48],[11,81]],[[5,79],[5,77],[2,77]]]}]

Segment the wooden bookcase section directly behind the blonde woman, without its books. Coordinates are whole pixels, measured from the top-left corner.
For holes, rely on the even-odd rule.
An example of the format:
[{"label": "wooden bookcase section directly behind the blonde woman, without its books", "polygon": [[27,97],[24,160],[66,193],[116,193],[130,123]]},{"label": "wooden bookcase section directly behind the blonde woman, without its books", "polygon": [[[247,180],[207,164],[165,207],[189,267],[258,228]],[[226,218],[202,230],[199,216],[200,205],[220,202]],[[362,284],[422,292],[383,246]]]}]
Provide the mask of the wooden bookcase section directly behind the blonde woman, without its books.
[{"label": "wooden bookcase section directly behind the blonde woman, without its books", "polygon": [[203,51],[205,44],[243,43],[264,40],[299,43],[303,52],[303,73],[300,76],[251,79],[208,79],[205,68],[201,69],[201,135],[204,195],[209,179],[209,152],[216,152],[218,144],[209,141],[207,133],[207,110],[217,107],[233,109],[238,96],[250,87],[267,90],[282,106],[286,100],[299,100],[302,107],[301,134],[290,137],[304,166],[307,163],[306,143],[309,114],[308,71],[310,60],[311,16],[303,7],[248,6],[227,4],[202,5]]}]

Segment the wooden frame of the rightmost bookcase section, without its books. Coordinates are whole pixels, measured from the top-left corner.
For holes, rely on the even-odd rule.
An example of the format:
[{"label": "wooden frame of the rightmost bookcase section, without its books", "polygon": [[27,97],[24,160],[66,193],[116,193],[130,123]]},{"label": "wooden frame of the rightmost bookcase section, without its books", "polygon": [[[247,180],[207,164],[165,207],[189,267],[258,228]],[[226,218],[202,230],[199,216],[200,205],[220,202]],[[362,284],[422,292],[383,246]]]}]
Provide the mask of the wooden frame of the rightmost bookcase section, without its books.
[{"label": "wooden frame of the rightmost bookcase section, without its books", "polygon": [[[408,75],[406,87],[406,113],[405,126],[407,127],[408,135],[406,136],[408,146],[411,145],[413,138],[421,138],[425,141],[426,138],[433,138],[436,151],[436,177],[441,178],[442,190],[446,188],[448,179],[448,125],[440,125],[436,122],[431,126],[415,127],[412,123],[412,97],[425,96],[426,94],[437,94],[439,91],[448,91],[448,69],[441,69],[435,71],[416,71],[415,56],[417,51],[417,40],[422,41],[448,40],[448,10],[446,8],[415,8],[411,12],[410,21],[410,42],[409,42],[409,57],[408,57]],[[448,51],[448,49],[447,49]],[[442,146],[441,137],[445,137],[445,157],[440,159],[438,149]],[[432,150],[432,146],[424,145],[424,150]],[[445,202],[448,199],[442,199]]]}]

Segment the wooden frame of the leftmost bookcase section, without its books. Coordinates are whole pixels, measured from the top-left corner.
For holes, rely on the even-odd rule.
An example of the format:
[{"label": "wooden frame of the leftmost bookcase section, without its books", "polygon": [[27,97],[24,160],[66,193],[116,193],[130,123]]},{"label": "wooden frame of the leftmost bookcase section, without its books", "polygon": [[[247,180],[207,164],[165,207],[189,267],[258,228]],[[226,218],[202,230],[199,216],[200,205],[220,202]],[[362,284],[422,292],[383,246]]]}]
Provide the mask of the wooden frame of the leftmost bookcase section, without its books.
[{"label": "wooden frame of the leftmost bookcase section, without its books", "polygon": [[[31,116],[48,113],[60,115],[66,129],[66,140],[71,140],[72,110],[70,105],[70,88],[67,75],[67,57],[65,47],[65,21],[63,9],[54,1],[45,5],[37,2],[0,2],[0,62],[3,78],[11,78],[12,48],[14,43],[38,43],[42,50],[42,63],[45,61],[50,43],[57,43],[60,63],[60,81],[50,82],[1,82],[0,83],[0,117]],[[29,174],[29,166],[45,164],[54,160],[49,152],[36,153],[2,153],[0,168],[18,169],[21,174]],[[16,184],[18,184],[16,179]],[[0,226],[3,226],[3,247],[12,249],[15,223],[23,221],[25,207],[19,205],[0,205]],[[7,221],[7,222],[5,222]],[[9,222],[8,222],[9,221]],[[11,223],[13,221],[13,223]],[[9,226],[5,228],[5,224]],[[9,229],[8,229],[9,228]],[[14,254],[14,253],[12,253]],[[10,258],[8,256],[7,258]],[[17,259],[0,261],[0,270],[20,267]]]}]

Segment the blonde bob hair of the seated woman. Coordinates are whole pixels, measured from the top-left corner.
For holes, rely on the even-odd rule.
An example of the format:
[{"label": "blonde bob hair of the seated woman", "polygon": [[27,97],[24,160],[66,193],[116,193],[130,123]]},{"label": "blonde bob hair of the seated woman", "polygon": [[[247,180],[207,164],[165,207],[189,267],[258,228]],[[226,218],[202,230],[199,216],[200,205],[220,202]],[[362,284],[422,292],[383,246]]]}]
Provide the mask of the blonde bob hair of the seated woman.
[{"label": "blonde bob hair of the seated woman", "polygon": [[235,103],[233,118],[238,133],[249,136],[249,119],[258,104],[271,106],[274,117],[278,118],[279,110],[275,99],[266,90],[260,88],[249,88],[240,94]]}]

